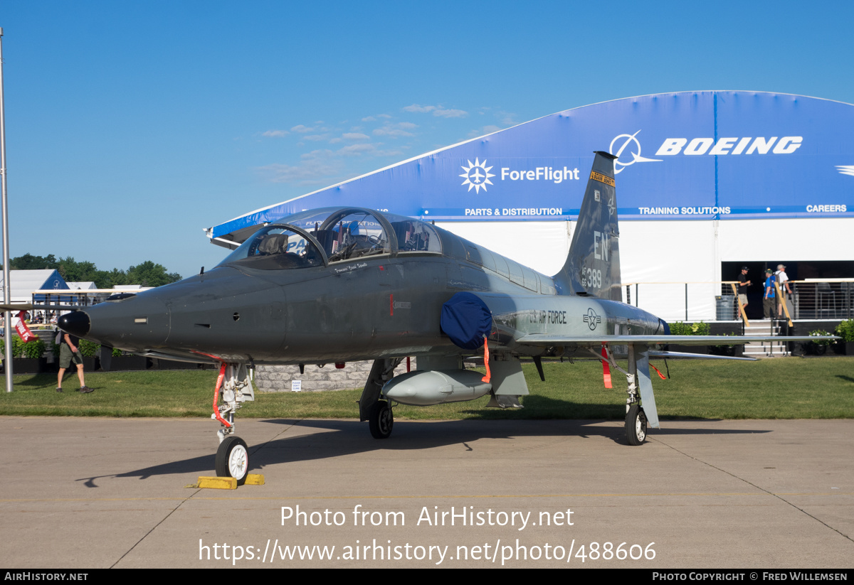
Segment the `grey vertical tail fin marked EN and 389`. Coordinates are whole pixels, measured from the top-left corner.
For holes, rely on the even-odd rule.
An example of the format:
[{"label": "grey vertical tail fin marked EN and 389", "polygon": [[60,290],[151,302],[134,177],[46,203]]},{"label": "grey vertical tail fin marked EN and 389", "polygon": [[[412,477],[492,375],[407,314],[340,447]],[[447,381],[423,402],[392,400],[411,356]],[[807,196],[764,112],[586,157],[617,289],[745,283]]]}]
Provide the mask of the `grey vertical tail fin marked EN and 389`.
[{"label": "grey vertical tail fin marked EN and 389", "polygon": [[566,264],[553,276],[560,294],[623,300],[614,159],[597,151]]}]

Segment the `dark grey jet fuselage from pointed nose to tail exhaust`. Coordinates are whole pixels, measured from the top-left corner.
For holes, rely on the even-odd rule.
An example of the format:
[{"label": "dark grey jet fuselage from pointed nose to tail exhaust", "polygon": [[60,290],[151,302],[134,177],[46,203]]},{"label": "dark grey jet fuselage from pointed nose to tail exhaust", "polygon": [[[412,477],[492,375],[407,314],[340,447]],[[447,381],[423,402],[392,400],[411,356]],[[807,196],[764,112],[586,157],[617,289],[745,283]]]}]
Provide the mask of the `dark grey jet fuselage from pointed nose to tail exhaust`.
[{"label": "dark grey jet fuselage from pointed nose to tail exhaust", "polygon": [[471,354],[440,327],[442,304],[463,291],[477,294],[492,311],[493,350],[547,354],[514,344],[530,333],[661,333],[658,319],[643,310],[556,294],[551,277],[435,226],[430,231],[442,252],[402,252],[389,238],[387,253],[326,258],[300,269],[226,259],[202,275],[87,308],[88,330],[76,333],[137,354],[196,362]]}]

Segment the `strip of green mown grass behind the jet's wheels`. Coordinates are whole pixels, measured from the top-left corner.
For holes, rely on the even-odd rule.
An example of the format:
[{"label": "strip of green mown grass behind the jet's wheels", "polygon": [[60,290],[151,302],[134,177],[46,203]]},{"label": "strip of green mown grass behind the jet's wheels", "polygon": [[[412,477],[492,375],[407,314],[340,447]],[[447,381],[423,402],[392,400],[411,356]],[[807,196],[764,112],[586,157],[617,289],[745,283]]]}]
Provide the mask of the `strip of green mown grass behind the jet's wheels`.
[{"label": "strip of green mown grass behind the jet's wheels", "polygon": [[[664,371],[663,362],[655,362]],[[671,379],[653,375],[658,414],[664,419],[854,418],[854,357],[775,358],[760,362],[669,362]],[[545,363],[546,382],[526,364],[530,395],[523,410],[485,408],[488,397],[426,408],[398,406],[395,418],[622,419],[625,380],[612,372],[602,385],[595,362]],[[0,414],[54,416],[210,416],[213,370],[87,373],[91,394],[73,391],[67,376],[57,393],[56,375],[15,376],[15,391],[0,394]],[[360,390],[257,393],[239,412],[251,418],[355,418]]]}]

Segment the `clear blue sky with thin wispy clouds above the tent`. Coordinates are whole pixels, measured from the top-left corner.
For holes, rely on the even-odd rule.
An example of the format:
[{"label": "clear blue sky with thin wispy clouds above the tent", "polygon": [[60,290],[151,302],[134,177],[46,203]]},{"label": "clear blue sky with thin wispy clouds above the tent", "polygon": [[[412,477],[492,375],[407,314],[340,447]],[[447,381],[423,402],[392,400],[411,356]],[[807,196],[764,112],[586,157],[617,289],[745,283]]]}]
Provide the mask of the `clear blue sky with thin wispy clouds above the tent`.
[{"label": "clear blue sky with thin wispy clouds above the tent", "polygon": [[570,107],[684,90],[851,103],[852,17],[851,2],[3,0],[10,255],[189,276],[226,254],[203,228]]}]

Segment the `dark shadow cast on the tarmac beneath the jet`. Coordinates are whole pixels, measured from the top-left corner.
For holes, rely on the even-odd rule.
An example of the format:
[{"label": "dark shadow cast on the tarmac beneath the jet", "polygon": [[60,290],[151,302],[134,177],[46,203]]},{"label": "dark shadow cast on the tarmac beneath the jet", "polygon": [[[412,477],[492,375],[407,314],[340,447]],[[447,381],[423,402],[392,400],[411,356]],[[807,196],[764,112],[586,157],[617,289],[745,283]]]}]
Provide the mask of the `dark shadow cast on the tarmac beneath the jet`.
[{"label": "dark shadow cast on the tarmac beneath the jet", "polygon": [[[581,406],[581,405],[579,405]],[[700,420],[697,420],[698,422]],[[709,421],[704,419],[703,421]],[[273,438],[266,443],[249,444],[251,460],[250,472],[263,472],[266,466],[276,466],[297,461],[322,460],[342,455],[354,455],[371,451],[409,451],[435,449],[448,445],[462,445],[469,451],[477,450],[479,439],[506,439],[517,437],[605,437],[614,443],[625,443],[626,437],[622,425],[603,426],[606,420],[441,420],[418,422],[398,420],[394,434],[389,439],[377,440],[371,437],[367,425],[356,420],[297,420],[269,419],[261,422],[272,425],[310,427],[325,432],[312,432],[295,437]],[[750,430],[715,429],[656,429],[649,438],[685,436],[685,435],[727,435],[770,432]],[[295,434],[291,432],[290,434]],[[144,467],[129,472],[120,472],[109,476],[80,478],[87,487],[97,488],[100,478],[139,478],[173,474],[212,475],[213,455],[202,455],[190,459],[170,461],[161,465]]]}]

